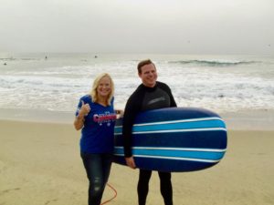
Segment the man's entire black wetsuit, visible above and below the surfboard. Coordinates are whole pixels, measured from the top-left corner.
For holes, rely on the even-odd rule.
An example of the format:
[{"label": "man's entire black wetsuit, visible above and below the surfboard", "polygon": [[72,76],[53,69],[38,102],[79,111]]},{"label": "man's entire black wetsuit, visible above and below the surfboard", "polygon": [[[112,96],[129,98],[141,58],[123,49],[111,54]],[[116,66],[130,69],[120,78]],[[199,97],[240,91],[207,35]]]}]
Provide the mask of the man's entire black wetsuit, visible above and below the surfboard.
[{"label": "man's entire black wetsuit, visible above and below the surfboard", "polygon": [[[132,157],[132,125],[136,115],[145,110],[157,108],[176,107],[170,87],[161,82],[156,82],[154,87],[140,85],[129,98],[123,116],[122,135],[124,140],[125,157]],[[152,171],[140,169],[138,181],[139,205],[144,205],[149,190],[149,180]],[[161,184],[161,193],[165,205],[173,204],[173,190],[170,172],[158,171]]]}]

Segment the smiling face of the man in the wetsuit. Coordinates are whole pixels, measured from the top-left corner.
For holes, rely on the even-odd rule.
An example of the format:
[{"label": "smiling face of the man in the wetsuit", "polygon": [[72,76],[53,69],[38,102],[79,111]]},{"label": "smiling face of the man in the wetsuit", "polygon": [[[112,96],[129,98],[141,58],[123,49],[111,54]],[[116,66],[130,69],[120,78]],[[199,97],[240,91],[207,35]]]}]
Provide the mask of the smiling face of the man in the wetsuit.
[{"label": "smiling face of the man in the wetsuit", "polygon": [[148,64],[141,67],[142,72],[139,77],[142,79],[142,84],[146,87],[154,87],[157,80],[157,70],[153,64]]}]

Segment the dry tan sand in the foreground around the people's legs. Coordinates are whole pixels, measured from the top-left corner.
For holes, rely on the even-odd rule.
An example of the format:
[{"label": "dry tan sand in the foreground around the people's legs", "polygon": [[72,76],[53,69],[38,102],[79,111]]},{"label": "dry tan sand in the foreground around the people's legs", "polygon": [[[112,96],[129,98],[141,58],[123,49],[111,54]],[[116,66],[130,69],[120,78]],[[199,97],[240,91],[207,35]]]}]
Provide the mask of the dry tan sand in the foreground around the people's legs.
[{"label": "dry tan sand in the foreground around the people's legs", "polygon": [[[274,204],[274,131],[228,130],[227,154],[210,169],[173,174],[174,205]],[[108,204],[137,204],[138,170],[113,164]],[[85,205],[79,132],[68,124],[0,121],[0,205]],[[107,187],[103,200],[113,197]],[[147,205],[161,205],[156,172]]]}]

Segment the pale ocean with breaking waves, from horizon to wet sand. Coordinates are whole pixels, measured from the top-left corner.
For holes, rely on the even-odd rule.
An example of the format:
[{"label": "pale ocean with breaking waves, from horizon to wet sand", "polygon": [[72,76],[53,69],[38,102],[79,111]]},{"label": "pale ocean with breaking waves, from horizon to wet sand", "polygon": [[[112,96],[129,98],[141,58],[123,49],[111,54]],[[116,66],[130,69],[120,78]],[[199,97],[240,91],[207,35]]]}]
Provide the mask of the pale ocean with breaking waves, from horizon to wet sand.
[{"label": "pale ocean with breaking waves, from horizon to wet sand", "polygon": [[124,108],[141,84],[136,67],[145,58],[155,63],[158,80],[172,88],[178,107],[219,114],[274,110],[273,56],[0,54],[0,118],[74,115],[79,97],[101,72],[114,80],[115,108]]}]

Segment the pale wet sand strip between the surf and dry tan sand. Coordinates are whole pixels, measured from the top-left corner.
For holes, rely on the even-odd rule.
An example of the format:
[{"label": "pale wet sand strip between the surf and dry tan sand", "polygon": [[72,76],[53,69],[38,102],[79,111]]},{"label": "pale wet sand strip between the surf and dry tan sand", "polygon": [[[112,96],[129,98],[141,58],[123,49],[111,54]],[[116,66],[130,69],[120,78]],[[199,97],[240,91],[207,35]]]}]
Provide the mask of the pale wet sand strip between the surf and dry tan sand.
[{"label": "pale wet sand strip between the surf and dry tan sand", "polygon": [[[227,130],[274,130],[274,110],[242,110],[220,113],[219,116],[224,119]],[[72,124],[74,118],[73,110],[0,108],[0,120]]]}]

